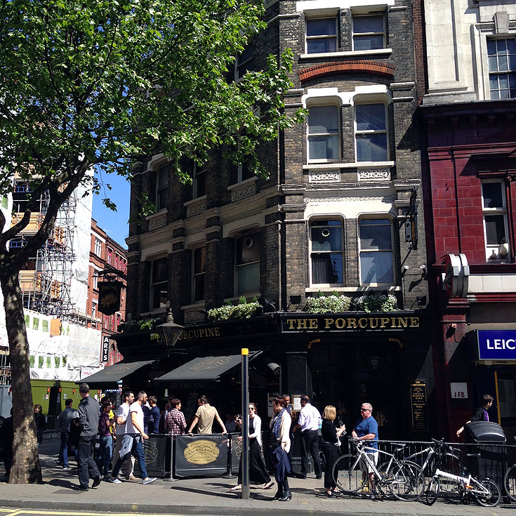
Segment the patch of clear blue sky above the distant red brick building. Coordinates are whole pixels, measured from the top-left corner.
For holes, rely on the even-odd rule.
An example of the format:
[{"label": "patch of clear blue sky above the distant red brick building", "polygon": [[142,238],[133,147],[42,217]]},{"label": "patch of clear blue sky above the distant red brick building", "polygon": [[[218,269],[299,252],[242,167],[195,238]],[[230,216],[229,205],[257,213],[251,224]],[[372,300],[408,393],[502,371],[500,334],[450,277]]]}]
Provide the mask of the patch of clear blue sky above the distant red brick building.
[{"label": "patch of clear blue sky above the distant red brick building", "polygon": [[[100,195],[93,195],[93,218],[115,242],[127,249],[126,237],[129,232],[129,199],[131,185],[125,178],[116,174],[102,176],[103,183],[111,185],[112,189],[104,187]],[[117,205],[117,211],[107,209],[102,199],[108,197]]]}]

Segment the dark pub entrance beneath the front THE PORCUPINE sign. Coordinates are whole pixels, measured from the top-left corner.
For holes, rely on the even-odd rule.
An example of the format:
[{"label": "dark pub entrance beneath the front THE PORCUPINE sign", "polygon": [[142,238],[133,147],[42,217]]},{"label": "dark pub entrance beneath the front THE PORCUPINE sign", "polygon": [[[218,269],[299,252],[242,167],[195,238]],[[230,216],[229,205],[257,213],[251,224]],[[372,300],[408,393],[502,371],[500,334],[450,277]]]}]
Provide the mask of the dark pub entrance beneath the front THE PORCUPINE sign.
[{"label": "dark pub entrance beneath the front THE PORCUPINE sign", "polygon": [[380,439],[404,437],[402,350],[388,340],[329,340],[314,343],[307,357],[313,402],[334,405],[350,433],[360,405],[373,405]]}]

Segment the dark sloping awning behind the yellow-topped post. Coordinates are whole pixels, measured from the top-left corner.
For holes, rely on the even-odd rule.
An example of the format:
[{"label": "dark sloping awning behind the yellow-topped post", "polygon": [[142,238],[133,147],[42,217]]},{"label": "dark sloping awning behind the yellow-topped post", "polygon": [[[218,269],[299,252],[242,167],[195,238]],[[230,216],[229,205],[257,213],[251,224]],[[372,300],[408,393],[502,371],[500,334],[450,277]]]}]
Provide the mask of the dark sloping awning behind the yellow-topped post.
[{"label": "dark sloping awning behind the yellow-topped post", "polygon": [[[249,359],[258,357],[261,351],[249,353]],[[200,357],[190,360],[169,373],[154,378],[155,382],[180,381],[218,381],[220,376],[233,367],[242,364],[242,355],[223,355],[221,357]]]}]

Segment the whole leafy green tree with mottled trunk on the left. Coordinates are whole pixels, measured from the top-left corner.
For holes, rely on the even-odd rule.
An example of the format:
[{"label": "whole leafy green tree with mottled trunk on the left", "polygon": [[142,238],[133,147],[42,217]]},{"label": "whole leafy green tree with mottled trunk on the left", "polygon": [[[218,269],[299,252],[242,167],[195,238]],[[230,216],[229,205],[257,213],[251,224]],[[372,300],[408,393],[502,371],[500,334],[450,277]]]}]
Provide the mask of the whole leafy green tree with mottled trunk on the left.
[{"label": "whole leafy green tree with mottled trunk on the left", "polygon": [[[0,190],[17,177],[34,192],[0,235],[15,425],[10,482],[40,482],[18,272],[62,203],[91,168],[130,179],[133,162],[156,150],[183,180],[190,178],[180,159],[206,159],[213,147],[264,173],[256,145],[304,113],[283,113],[289,53],[227,80],[234,56],[265,26],[260,0],[4,0],[0,9]],[[99,186],[94,178],[91,190]],[[8,241],[27,227],[43,192],[43,223],[13,253]]]}]

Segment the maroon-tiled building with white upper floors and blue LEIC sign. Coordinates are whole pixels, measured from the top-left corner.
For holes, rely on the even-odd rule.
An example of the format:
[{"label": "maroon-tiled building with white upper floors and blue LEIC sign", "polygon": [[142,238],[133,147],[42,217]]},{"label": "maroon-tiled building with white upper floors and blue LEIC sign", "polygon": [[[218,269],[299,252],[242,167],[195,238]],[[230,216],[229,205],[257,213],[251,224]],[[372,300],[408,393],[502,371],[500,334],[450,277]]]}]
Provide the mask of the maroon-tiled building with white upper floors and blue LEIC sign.
[{"label": "maroon-tiled building with white upper floors and blue LEIC sign", "polygon": [[[425,0],[416,39],[439,435],[488,393],[516,433],[516,6]],[[423,57],[425,60],[423,61]],[[423,74],[419,83],[425,83]]]}]

